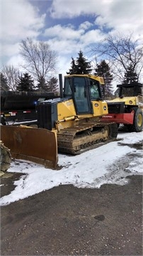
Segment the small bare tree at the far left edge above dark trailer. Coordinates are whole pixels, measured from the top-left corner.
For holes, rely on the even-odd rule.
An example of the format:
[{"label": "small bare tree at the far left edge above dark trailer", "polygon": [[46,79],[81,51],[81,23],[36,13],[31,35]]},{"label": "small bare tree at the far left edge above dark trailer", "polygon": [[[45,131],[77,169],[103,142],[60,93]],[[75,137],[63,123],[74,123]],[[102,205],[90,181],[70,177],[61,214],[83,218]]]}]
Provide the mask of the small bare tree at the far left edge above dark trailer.
[{"label": "small bare tree at the far left edge above dark trailer", "polygon": [[6,65],[1,69],[1,73],[6,78],[8,90],[16,91],[18,78],[21,75],[18,68],[14,68],[13,65]]}]

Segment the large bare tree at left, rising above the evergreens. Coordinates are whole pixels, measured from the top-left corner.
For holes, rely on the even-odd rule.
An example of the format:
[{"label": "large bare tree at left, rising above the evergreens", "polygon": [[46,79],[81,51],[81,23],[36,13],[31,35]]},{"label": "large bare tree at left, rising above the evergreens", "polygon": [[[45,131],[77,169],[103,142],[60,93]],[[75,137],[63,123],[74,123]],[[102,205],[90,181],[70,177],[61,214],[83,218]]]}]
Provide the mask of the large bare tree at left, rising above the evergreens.
[{"label": "large bare tree at left, rising above the evergreens", "polygon": [[23,68],[36,80],[45,80],[50,73],[55,71],[57,57],[55,51],[50,50],[48,43],[33,42],[30,38],[26,38],[21,41],[20,53],[26,63]]}]

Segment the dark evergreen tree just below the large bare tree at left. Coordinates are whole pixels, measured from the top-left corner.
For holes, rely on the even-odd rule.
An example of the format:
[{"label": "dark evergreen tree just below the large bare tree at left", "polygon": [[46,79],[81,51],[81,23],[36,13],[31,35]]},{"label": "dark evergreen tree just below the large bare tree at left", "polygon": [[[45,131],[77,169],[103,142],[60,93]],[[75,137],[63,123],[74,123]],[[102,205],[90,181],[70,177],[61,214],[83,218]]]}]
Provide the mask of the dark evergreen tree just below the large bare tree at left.
[{"label": "dark evergreen tree just below the large bare tree at left", "polygon": [[24,73],[19,77],[18,86],[16,89],[20,92],[33,92],[34,81],[28,73]]}]

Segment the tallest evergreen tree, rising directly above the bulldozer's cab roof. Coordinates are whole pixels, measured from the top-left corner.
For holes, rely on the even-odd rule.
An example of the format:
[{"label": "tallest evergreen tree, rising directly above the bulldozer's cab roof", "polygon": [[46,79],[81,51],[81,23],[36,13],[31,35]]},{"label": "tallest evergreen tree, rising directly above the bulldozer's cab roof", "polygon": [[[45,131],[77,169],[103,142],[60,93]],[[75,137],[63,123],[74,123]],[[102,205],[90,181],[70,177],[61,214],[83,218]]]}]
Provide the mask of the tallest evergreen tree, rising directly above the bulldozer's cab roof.
[{"label": "tallest evergreen tree, rising directly above the bulldozer's cab roof", "polygon": [[84,58],[83,52],[80,50],[78,53],[79,57],[76,58],[76,61],[74,58],[71,58],[71,68],[69,69],[69,72],[67,72],[68,75],[72,74],[90,74],[91,73],[91,62],[87,61],[86,58]]}]

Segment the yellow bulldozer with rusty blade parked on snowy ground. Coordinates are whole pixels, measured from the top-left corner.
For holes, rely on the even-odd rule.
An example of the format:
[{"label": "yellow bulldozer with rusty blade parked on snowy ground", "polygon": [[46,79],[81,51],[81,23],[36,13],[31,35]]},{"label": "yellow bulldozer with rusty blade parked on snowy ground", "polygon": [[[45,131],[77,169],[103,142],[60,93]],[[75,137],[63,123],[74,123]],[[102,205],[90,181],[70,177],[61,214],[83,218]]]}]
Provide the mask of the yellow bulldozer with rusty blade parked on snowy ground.
[{"label": "yellow bulldozer with rusty blade parked on snowy ground", "polygon": [[102,100],[103,78],[59,74],[60,97],[37,105],[37,127],[1,125],[1,140],[11,156],[57,169],[58,152],[82,152],[111,142],[118,135],[115,122],[101,122],[108,114]]}]

